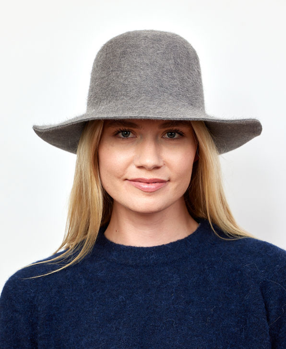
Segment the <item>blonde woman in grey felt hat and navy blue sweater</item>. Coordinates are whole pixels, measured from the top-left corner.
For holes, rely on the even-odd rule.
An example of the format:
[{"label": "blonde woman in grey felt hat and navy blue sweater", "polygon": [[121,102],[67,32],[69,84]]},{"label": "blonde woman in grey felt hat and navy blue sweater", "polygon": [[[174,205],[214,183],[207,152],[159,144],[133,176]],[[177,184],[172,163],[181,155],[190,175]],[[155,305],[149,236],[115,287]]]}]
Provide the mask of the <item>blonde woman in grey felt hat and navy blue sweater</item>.
[{"label": "blonde woman in grey felt hat and navy blue sweater", "polygon": [[77,154],[67,233],[6,282],[0,348],[286,348],[286,251],[236,224],[219,173],[261,124],[205,113],[186,40],[109,40],[86,113],[34,130]]}]

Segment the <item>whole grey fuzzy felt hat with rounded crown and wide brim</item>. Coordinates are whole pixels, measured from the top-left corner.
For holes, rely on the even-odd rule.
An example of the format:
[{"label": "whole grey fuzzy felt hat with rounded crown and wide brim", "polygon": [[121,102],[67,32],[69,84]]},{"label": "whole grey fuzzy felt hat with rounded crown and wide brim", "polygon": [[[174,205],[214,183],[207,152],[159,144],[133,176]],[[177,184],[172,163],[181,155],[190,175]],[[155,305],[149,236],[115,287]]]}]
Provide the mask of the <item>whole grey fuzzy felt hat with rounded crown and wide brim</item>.
[{"label": "whole grey fuzzy felt hat with rounded crown and wide brim", "polygon": [[203,120],[220,154],[262,131],[254,118],[206,114],[196,51],[181,36],[158,30],[129,31],[110,39],[93,62],[86,113],[33,129],[44,141],[76,153],[88,120],[135,118]]}]

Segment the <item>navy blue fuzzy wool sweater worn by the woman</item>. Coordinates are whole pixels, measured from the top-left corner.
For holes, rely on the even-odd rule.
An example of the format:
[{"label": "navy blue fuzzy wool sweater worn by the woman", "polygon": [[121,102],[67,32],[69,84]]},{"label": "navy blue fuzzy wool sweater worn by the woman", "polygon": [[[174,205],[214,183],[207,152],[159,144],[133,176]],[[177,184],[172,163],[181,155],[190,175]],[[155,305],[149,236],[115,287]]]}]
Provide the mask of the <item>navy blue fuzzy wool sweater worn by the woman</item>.
[{"label": "navy blue fuzzy wool sweater worn by the woman", "polygon": [[269,242],[222,240],[206,220],[153,247],[101,230],[81,262],[23,280],[56,267],[8,279],[1,349],[286,349],[286,250]]}]

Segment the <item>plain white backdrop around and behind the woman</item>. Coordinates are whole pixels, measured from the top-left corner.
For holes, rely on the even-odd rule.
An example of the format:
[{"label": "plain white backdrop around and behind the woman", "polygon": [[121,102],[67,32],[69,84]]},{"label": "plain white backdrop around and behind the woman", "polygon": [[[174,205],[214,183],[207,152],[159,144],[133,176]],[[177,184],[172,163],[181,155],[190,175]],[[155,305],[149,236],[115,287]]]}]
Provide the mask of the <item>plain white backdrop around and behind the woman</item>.
[{"label": "plain white backdrop around and behind the woman", "polygon": [[130,30],[174,32],[197,51],[206,111],[255,117],[261,136],[220,156],[237,222],[286,249],[285,0],[10,0],[0,10],[0,289],[61,244],[76,156],[33,124],[82,114],[101,46]]}]

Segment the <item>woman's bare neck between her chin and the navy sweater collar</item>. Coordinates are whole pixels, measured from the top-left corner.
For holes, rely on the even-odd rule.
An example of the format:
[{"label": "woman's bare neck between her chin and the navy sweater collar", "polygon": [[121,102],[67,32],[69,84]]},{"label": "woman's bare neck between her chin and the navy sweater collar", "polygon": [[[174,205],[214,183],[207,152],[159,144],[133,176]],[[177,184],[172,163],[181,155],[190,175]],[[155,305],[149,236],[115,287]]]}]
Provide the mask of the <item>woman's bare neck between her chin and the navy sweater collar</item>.
[{"label": "woman's bare neck between her chin and the navy sweater collar", "polygon": [[130,246],[156,246],[184,238],[198,228],[183,198],[156,213],[142,214],[114,202],[105,236]]}]

